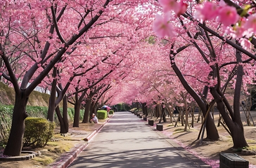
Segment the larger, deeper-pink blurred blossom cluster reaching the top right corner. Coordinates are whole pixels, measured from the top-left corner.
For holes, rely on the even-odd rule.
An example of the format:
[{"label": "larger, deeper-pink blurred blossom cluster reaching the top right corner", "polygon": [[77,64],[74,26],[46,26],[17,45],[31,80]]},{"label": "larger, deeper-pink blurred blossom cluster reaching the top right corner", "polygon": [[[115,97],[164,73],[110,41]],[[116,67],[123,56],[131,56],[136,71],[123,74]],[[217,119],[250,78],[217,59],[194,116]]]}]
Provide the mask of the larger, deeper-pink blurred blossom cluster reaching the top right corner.
[{"label": "larger, deeper-pink blurred blossom cluster reaching the top right corner", "polygon": [[239,42],[243,48],[250,48],[251,44],[248,38],[256,34],[256,14],[243,18],[238,15],[235,7],[228,6],[221,0],[218,4],[210,1],[201,4],[197,8],[195,16],[203,21],[217,18],[218,22],[221,22],[225,27],[229,27],[227,32],[233,38],[241,38]]}]

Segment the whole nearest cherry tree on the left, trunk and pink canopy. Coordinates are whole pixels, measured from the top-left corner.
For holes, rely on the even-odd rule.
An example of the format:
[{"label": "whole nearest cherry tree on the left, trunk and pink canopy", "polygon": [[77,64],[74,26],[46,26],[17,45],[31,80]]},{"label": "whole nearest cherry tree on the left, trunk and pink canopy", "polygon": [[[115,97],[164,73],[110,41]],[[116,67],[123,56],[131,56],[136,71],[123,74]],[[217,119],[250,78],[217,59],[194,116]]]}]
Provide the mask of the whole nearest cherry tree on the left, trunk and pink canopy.
[{"label": "whole nearest cherry tree on the left, trunk and pink canopy", "polygon": [[[0,55],[4,62],[1,76],[9,80],[15,90],[13,124],[5,155],[20,155],[27,99],[53,66],[65,57],[71,57],[70,52],[77,45],[87,43],[87,32],[98,31],[100,27],[97,25],[114,20],[119,15],[127,16],[128,21],[134,13],[132,11],[144,2],[106,0],[1,3]],[[104,19],[101,22],[99,18]],[[24,64],[25,73],[18,80],[19,74],[15,74],[8,58],[15,59],[19,55],[23,56],[20,62]]]}]

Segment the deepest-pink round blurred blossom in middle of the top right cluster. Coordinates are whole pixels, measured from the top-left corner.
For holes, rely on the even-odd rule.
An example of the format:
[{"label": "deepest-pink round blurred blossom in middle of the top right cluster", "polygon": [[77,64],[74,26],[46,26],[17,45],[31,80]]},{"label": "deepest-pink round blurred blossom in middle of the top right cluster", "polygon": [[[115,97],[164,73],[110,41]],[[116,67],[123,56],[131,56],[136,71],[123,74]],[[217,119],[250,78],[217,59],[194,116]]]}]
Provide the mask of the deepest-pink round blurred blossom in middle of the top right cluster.
[{"label": "deepest-pink round blurred blossom in middle of the top right cluster", "polygon": [[235,24],[238,19],[239,15],[236,8],[232,6],[224,6],[219,10],[219,22],[222,22],[226,27]]}]

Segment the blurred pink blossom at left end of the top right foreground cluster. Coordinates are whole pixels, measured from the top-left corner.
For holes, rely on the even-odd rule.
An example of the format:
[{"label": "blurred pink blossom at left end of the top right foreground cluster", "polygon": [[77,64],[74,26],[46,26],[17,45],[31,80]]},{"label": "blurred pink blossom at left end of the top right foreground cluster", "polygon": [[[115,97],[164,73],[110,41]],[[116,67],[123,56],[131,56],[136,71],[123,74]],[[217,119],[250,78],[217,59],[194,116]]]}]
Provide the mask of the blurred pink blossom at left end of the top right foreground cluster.
[{"label": "blurred pink blossom at left end of the top right foreground cluster", "polygon": [[205,20],[212,20],[218,15],[218,6],[216,3],[207,1],[203,5],[198,6],[197,18]]}]

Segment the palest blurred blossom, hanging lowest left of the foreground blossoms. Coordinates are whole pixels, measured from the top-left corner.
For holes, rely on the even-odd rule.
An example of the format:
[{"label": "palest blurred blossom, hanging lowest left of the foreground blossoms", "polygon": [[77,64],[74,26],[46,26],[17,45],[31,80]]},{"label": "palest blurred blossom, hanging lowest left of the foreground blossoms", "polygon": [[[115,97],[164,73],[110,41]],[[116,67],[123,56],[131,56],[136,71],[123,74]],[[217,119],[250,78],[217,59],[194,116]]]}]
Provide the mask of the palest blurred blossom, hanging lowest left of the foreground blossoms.
[{"label": "palest blurred blossom, hanging lowest left of the foreground blossoms", "polygon": [[153,22],[153,31],[155,31],[155,34],[159,37],[176,35],[174,28],[169,23],[169,15],[164,15],[164,17],[156,15],[155,22]]}]

